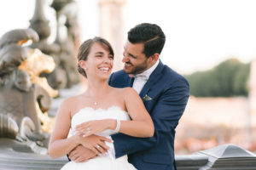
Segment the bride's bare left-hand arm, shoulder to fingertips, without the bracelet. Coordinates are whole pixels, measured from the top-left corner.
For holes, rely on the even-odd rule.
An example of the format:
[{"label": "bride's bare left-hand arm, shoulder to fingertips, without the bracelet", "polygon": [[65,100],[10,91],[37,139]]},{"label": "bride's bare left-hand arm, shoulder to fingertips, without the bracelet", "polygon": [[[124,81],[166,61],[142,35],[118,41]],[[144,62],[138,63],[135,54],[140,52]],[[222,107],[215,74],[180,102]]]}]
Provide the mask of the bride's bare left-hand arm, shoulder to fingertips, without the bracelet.
[{"label": "bride's bare left-hand arm, shoulder to fingertips, without the bracelet", "polygon": [[[68,99],[61,103],[61,107],[55,118],[55,127],[49,139],[49,156],[52,158],[66,156],[79,144],[93,150],[97,155],[108,150],[108,146],[104,141],[111,142],[111,140],[102,136],[91,135],[90,137],[83,138],[75,134],[67,138],[71,124],[70,105],[72,105],[72,102]],[[97,145],[101,146],[100,150],[96,147]]]}]

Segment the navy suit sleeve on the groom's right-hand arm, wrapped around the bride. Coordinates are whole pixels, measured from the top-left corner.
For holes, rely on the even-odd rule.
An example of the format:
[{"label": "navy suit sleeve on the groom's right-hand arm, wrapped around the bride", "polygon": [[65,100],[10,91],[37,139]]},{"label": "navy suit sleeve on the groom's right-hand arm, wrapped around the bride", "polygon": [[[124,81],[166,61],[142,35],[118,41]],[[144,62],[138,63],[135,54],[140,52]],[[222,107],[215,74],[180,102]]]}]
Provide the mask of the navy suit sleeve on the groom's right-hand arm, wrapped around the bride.
[{"label": "navy suit sleeve on the groom's right-hand arm, wrapped around the bride", "polygon": [[180,78],[172,84],[154,101],[154,108],[150,111],[154,122],[152,138],[134,138],[123,133],[111,136],[117,158],[154,147],[160,139],[165,138],[166,133],[175,133],[189,99],[189,83]]}]

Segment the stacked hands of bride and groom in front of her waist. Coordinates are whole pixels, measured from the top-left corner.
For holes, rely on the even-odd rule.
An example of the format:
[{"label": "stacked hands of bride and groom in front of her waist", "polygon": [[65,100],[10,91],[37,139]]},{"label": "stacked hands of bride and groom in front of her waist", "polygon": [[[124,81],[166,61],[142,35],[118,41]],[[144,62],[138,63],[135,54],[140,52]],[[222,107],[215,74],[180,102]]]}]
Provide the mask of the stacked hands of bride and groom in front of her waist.
[{"label": "stacked hands of bride and groom in front of her waist", "polygon": [[113,140],[95,133],[111,128],[111,124],[115,126],[112,120],[96,120],[76,126],[75,133],[78,136],[79,145],[68,154],[69,159],[82,162],[107,153],[109,147],[105,142],[113,142]]}]

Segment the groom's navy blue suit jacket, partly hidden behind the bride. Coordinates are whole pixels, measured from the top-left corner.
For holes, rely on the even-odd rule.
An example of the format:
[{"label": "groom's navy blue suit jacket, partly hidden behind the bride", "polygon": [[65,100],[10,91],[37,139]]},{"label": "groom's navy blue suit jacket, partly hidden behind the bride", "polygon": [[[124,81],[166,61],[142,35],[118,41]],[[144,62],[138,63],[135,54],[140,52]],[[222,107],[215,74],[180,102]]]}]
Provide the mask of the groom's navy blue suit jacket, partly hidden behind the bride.
[{"label": "groom's navy blue suit jacket, partly hidden behind the bride", "polygon": [[[132,86],[125,71],[116,71],[108,83],[115,88]],[[173,170],[175,128],[189,99],[189,82],[160,61],[144,85],[140,97],[154,122],[152,138],[134,138],[113,134],[116,157],[128,155],[128,161],[139,170]],[[136,104],[134,104],[136,105]]]}]

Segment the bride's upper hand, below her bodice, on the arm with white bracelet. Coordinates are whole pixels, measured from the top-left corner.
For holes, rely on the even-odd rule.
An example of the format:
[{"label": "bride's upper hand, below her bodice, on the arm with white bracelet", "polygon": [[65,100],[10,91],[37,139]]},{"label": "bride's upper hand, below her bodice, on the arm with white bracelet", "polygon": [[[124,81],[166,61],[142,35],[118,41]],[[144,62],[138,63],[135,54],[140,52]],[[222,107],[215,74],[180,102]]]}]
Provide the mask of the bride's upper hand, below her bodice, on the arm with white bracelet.
[{"label": "bride's upper hand, below her bodice, on the arm with white bracelet", "polygon": [[83,137],[94,133],[100,133],[106,129],[114,129],[116,121],[113,119],[102,119],[96,121],[83,122],[75,127],[76,131]]}]

